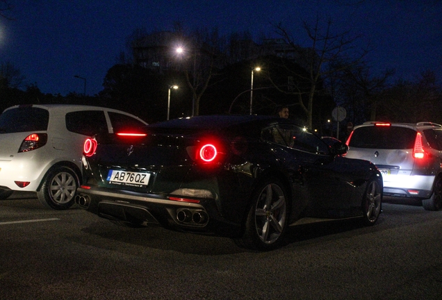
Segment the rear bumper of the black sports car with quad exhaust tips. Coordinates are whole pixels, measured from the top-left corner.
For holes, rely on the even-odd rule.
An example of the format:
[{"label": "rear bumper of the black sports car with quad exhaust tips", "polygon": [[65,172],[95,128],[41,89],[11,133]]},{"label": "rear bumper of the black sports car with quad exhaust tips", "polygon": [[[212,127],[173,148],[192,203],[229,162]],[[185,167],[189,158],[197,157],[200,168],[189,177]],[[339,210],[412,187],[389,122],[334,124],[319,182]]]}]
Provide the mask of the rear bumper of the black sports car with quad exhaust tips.
[{"label": "rear bumper of the black sports car with quad exhaust tips", "polygon": [[105,219],[226,237],[240,234],[240,224],[224,219],[214,199],[193,200],[199,202],[99,187],[79,188],[76,198],[81,207]]}]

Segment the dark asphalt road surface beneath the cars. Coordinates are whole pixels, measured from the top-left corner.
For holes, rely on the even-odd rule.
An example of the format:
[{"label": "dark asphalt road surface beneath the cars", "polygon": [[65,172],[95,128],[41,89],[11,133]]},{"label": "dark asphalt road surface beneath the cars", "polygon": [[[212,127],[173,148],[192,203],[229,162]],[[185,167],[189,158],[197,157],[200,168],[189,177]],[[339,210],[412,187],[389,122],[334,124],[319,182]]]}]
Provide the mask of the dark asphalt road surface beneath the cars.
[{"label": "dark asphalt road surface beneath the cars", "polygon": [[227,238],[131,229],[33,194],[0,201],[0,299],[442,299],[442,212],[384,203],[290,227],[259,253]]}]

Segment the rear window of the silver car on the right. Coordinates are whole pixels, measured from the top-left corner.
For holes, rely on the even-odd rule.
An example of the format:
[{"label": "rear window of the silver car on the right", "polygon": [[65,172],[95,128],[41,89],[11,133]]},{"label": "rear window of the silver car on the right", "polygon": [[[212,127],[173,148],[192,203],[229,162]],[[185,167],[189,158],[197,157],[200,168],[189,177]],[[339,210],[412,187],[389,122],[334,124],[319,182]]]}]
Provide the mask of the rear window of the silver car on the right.
[{"label": "rear window of the silver car on the right", "polygon": [[370,149],[412,149],[416,131],[398,126],[366,126],[354,130],[349,147]]}]

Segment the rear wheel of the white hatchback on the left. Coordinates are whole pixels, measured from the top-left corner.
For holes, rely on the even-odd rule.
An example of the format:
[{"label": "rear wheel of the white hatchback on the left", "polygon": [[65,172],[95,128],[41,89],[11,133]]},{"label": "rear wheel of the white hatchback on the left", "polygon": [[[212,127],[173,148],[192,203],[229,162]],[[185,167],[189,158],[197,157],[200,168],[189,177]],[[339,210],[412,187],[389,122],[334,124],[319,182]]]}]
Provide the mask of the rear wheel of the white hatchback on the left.
[{"label": "rear wheel of the white hatchback on the left", "polygon": [[65,210],[74,204],[78,187],[79,177],[72,169],[55,167],[44,177],[37,197],[44,206]]}]

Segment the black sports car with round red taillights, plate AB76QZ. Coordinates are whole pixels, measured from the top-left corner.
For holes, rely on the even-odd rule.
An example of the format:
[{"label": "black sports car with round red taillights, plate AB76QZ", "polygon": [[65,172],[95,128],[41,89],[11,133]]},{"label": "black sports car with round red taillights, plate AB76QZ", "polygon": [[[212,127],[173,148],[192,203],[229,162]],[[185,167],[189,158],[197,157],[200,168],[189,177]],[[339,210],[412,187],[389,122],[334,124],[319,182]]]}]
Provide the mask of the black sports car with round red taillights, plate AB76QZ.
[{"label": "black sports car with round red taillights, plate AB76QZ", "polygon": [[234,238],[275,249],[304,217],[375,224],[382,176],[289,119],[213,115],[85,142],[76,203],[127,226]]}]

